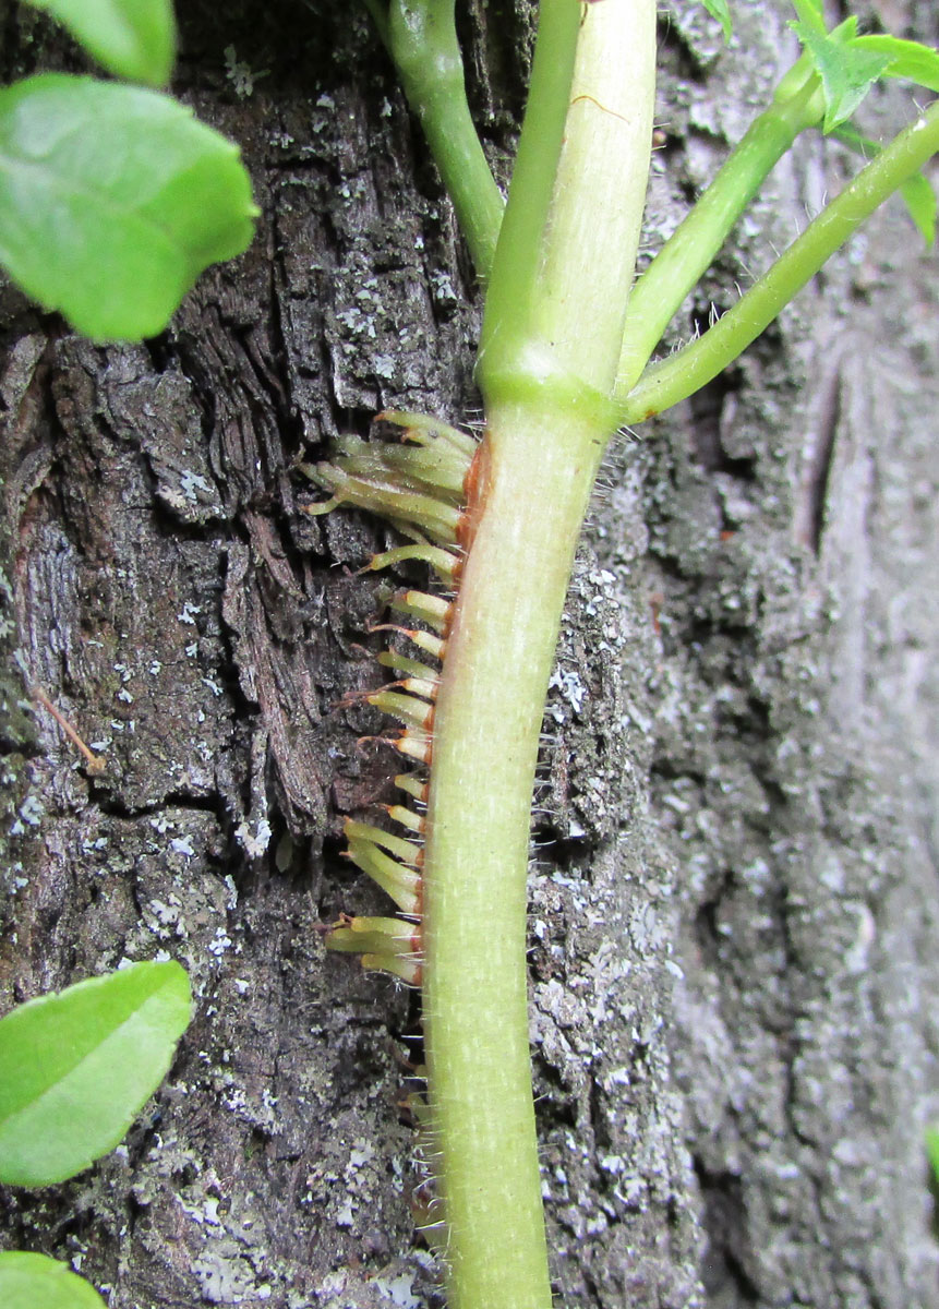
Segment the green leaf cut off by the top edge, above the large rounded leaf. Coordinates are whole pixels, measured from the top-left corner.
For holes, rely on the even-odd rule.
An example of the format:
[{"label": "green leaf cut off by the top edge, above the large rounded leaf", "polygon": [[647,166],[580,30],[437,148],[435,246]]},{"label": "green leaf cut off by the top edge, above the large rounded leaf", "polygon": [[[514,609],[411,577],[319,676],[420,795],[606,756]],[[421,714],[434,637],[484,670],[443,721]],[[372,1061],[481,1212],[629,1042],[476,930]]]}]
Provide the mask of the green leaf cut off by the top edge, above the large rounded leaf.
[{"label": "green leaf cut off by the top edge, above the large rounded leaf", "polygon": [[118,77],[165,86],[177,54],[171,0],[27,0]]}]

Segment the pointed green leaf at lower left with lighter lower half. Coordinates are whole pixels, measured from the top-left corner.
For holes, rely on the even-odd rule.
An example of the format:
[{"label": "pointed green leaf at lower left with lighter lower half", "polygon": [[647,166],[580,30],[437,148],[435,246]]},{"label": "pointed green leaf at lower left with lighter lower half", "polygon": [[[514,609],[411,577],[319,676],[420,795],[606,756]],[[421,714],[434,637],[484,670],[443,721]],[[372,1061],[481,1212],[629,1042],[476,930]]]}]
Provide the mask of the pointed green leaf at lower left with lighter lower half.
[{"label": "pointed green leaf at lower left with lighter lower half", "polygon": [[136,963],[1,1018],[0,1182],[63,1182],[112,1149],[170,1067],[190,1004],[178,963]]}]

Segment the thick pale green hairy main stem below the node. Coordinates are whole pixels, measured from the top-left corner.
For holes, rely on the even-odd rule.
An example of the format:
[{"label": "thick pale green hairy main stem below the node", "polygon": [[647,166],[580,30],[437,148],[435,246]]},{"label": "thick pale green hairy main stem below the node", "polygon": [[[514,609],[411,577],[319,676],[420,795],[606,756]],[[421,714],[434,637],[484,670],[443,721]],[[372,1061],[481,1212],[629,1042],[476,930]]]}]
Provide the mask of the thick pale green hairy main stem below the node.
[{"label": "thick pale green hairy main stem below the node", "polygon": [[451,1309],[551,1306],[528,1056],[528,808],[603,436],[531,404],[490,415],[483,512],[437,700],[424,1024]]}]

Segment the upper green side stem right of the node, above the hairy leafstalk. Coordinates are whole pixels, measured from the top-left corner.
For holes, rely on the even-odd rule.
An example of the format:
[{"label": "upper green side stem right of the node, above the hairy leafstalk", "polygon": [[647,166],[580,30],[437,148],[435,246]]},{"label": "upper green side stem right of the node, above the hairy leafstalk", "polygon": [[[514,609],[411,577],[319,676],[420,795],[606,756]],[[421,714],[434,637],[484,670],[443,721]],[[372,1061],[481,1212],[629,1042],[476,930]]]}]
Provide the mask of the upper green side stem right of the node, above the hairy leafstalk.
[{"label": "upper green side stem right of the node, above the hairy leafstalk", "polygon": [[688,217],[637,281],[629,304],[616,394],[636,385],[667,323],[697,284],[770,170],[807,127],[821,120],[821,82],[806,55],[783,79],[773,103],[749,126]]}]

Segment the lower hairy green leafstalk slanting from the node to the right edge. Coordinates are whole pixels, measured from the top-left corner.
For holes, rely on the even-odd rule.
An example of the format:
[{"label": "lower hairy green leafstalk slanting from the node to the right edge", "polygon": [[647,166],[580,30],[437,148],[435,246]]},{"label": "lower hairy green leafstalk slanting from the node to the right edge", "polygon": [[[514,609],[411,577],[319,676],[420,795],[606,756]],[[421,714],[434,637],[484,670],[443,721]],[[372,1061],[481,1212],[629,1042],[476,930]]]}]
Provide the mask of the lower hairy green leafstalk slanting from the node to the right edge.
[{"label": "lower hairy green leafstalk slanting from the node to the right edge", "polygon": [[885,145],[704,336],[646,369],[619,410],[620,421],[641,423],[671,408],[732,364],[864,219],[936,151],[939,103]]}]

